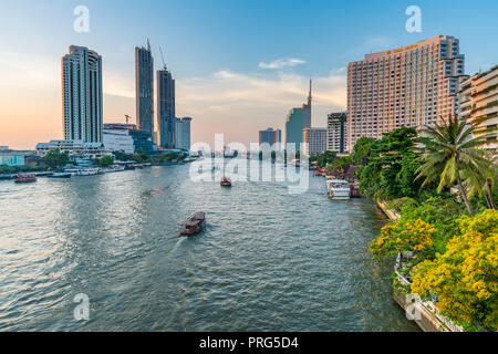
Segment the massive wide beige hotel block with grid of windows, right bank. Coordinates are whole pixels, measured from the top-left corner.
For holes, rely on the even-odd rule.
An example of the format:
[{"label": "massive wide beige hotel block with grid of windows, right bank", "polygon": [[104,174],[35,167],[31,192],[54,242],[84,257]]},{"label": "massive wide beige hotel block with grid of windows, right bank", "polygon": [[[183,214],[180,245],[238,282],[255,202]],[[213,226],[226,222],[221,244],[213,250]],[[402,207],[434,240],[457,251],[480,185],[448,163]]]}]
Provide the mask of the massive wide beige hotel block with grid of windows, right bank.
[{"label": "massive wide beige hotel block with grid of windows, right bank", "polygon": [[367,54],[347,64],[347,146],[401,126],[424,126],[455,114],[464,74],[459,41],[438,35]]}]

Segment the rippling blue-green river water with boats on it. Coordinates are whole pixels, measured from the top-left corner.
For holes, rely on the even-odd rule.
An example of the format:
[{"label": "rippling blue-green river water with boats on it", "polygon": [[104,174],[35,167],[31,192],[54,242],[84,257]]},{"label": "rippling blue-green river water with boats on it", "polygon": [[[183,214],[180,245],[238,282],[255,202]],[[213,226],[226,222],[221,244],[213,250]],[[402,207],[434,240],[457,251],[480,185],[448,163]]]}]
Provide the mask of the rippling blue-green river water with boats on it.
[{"label": "rippling blue-green river water with boats on it", "polygon": [[[197,210],[206,230],[179,239]],[[317,177],[300,195],[188,165],[0,181],[0,331],[417,331],[367,249],[385,222]]]}]

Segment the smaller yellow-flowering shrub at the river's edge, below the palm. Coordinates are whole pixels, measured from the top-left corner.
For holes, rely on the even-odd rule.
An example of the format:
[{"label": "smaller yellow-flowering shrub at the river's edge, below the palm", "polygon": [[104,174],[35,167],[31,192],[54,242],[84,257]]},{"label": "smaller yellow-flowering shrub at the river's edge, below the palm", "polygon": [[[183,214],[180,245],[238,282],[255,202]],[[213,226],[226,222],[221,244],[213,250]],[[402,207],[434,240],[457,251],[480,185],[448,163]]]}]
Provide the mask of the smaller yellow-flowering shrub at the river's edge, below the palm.
[{"label": "smaller yellow-flowering shrub at the river's edge, below the palm", "polygon": [[385,226],[378,238],[370,243],[370,249],[375,259],[402,251],[424,254],[434,246],[433,235],[436,232],[434,226],[422,219],[397,221]]}]

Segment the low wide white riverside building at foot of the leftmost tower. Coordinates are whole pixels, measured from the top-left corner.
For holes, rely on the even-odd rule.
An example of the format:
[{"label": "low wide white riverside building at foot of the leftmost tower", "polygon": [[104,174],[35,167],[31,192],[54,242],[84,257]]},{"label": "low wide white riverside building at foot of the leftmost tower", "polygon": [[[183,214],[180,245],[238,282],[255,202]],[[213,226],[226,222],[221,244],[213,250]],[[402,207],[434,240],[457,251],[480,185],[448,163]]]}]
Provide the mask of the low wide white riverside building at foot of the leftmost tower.
[{"label": "low wide white riverside building at foot of the leftmost tower", "polygon": [[37,155],[44,157],[49,152],[59,149],[68,154],[70,159],[75,158],[102,158],[113,154],[102,143],[84,143],[82,140],[50,140],[50,143],[38,143]]}]

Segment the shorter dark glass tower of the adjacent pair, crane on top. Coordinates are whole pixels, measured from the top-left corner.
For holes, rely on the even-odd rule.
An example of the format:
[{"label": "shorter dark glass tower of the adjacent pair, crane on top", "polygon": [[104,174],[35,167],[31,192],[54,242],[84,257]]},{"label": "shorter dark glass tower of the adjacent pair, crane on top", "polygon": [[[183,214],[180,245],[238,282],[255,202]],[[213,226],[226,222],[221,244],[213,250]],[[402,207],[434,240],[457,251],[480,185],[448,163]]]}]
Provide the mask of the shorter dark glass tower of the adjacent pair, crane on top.
[{"label": "shorter dark glass tower of the adjacent pair, crane on top", "polygon": [[157,71],[157,145],[175,148],[175,80],[164,66]]}]

